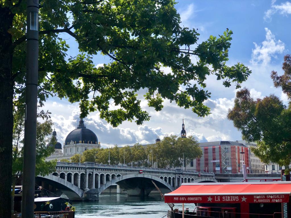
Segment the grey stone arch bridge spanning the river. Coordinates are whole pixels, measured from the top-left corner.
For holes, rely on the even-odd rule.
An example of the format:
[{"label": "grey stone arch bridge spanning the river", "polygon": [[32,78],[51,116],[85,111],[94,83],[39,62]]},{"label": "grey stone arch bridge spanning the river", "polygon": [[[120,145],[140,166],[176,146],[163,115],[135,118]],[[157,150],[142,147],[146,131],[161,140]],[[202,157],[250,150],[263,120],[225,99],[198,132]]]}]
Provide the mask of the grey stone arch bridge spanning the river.
[{"label": "grey stone arch bridge spanning the river", "polygon": [[[280,175],[248,174],[248,178],[279,178]],[[93,162],[57,162],[56,172],[38,176],[36,184],[42,184],[55,194],[62,193],[70,200],[98,200],[99,194],[111,185],[117,185],[130,196],[148,195],[155,189],[154,181],[164,193],[173,191],[182,183],[242,181],[241,174],[214,174],[181,169],[160,169],[103,165]]]}]

